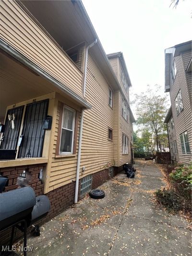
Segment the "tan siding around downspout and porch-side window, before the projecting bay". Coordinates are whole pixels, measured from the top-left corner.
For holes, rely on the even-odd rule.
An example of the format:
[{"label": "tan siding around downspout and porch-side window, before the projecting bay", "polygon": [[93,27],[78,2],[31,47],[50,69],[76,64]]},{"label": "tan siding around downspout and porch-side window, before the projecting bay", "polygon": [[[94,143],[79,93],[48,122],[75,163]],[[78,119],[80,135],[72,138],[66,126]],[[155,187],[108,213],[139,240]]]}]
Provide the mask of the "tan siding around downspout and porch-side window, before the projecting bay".
[{"label": "tan siding around downspout and porch-side window, before the projecting bay", "polygon": [[[117,132],[115,133],[113,123],[114,107],[117,109],[117,106],[113,105],[113,108],[110,108],[108,105],[108,88],[109,85],[107,81],[89,55],[85,98],[93,107],[91,110],[84,111],[80,178],[83,178],[87,174],[104,170],[108,168],[108,165],[114,166],[116,163],[117,153],[115,159],[113,148],[114,140],[117,141]],[[72,180],[76,180],[81,119],[79,118],[78,124],[76,155],[72,157],[55,158],[56,145],[60,141],[60,138],[58,138],[59,119],[60,110],[57,108],[51,163],[48,166],[50,173],[48,191],[71,183]],[[108,140],[108,127],[113,129],[113,141]],[[82,173],[83,166],[85,166],[84,173]]]}]

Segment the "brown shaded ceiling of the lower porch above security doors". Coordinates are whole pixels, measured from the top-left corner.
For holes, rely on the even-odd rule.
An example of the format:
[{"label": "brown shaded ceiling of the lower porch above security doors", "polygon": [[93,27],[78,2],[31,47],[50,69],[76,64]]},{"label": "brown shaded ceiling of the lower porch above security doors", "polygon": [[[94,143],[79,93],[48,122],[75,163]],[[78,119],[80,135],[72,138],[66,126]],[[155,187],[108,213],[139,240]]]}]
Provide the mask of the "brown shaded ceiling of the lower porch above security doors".
[{"label": "brown shaded ceiling of the lower porch above security doors", "polygon": [[0,117],[9,105],[54,92],[53,85],[0,53]]}]

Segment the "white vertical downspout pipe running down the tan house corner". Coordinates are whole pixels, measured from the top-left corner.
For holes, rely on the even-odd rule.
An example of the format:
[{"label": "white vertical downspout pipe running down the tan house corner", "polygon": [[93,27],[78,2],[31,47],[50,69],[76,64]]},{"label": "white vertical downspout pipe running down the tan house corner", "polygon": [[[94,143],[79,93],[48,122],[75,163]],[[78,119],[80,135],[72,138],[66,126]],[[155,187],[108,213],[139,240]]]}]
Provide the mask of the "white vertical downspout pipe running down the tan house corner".
[{"label": "white vertical downspout pipe running down the tan house corner", "polygon": [[[85,49],[85,58],[84,58],[84,80],[83,80],[83,95],[85,97],[86,91],[86,75],[87,75],[87,60],[88,60],[88,50],[96,45],[97,39],[88,45]],[[79,131],[79,148],[78,148],[78,158],[77,158],[77,171],[76,171],[76,183],[75,183],[75,199],[74,203],[76,204],[78,201],[78,192],[79,192],[79,171],[80,171],[80,163],[81,163],[81,145],[82,145],[82,134],[83,134],[83,124],[84,124],[84,109],[81,112],[81,123],[80,123],[80,131]]]}]

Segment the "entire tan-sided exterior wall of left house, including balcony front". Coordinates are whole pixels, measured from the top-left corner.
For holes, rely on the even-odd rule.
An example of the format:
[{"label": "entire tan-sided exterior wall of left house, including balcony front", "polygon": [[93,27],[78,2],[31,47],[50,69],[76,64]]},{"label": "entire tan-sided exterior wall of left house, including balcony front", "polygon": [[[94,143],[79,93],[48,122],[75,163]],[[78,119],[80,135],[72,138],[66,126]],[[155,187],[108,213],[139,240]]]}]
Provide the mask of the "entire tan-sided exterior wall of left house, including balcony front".
[{"label": "entire tan-sided exterior wall of left house, including balcony front", "polygon": [[[54,39],[17,1],[1,1],[0,7],[2,18],[0,36],[2,39],[44,72],[60,81],[63,86],[84,98],[82,94],[83,73],[80,70],[82,63],[78,63],[78,68]],[[81,59],[84,61],[84,47],[81,49]],[[120,81],[119,59],[114,60],[112,66]],[[111,72],[111,76],[113,75]],[[120,84],[116,86],[122,87]],[[113,91],[112,108],[108,105],[109,88]],[[89,53],[85,100],[92,105],[92,108],[84,110],[80,179],[88,174],[108,169],[110,166],[119,167],[131,160],[132,123],[130,119],[128,122],[125,121],[121,113],[122,98],[127,98],[127,95],[124,94],[124,87],[122,93],[120,90],[114,91],[112,88],[104,76],[104,71],[100,69]],[[43,146],[42,161],[47,163],[44,173],[44,193],[76,180],[80,113],[82,111],[79,104],[63,93],[54,91],[49,96],[48,115],[52,116],[53,120],[51,130],[46,131]],[[45,97],[47,96],[42,95],[40,98]],[[33,99],[26,102],[33,102]],[[58,144],[60,144],[59,125],[62,119],[60,104],[69,106],[78,113],[76,151],[71,155],[59,155],[57,152]],[[109,128],[113,131],[112,140],[108,139]],[[122,134],[129,137],[129,153],[127,155],[122,155]],[[15,161],[21,162],[21,159]],[[24,164],[32,164],[33,161],[36,163],[36,159],[26,159]],[[38,159],[37,162],[39,163]],[[7,163],[9,166],[9,161]],[[83,167],[85,167],[84,172],[82,171]]]}]

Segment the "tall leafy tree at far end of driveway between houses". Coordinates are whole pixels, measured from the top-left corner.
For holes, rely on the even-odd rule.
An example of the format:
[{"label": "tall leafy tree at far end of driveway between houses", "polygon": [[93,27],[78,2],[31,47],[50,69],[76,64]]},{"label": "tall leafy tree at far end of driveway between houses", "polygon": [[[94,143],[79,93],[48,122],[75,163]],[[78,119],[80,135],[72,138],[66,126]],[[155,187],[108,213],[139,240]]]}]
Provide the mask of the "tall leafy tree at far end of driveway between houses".
[{"label": "tall leafy tree at far end of driveway between houses", "polygon": [[164,120],[167,114],[167,97],[159,95],[159,85],[148,85],[147,91],[136,94],[137,122],[142,131],[145,149],[162,151],[168,147],[167,128]]}]

